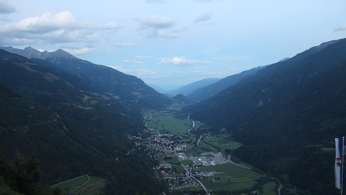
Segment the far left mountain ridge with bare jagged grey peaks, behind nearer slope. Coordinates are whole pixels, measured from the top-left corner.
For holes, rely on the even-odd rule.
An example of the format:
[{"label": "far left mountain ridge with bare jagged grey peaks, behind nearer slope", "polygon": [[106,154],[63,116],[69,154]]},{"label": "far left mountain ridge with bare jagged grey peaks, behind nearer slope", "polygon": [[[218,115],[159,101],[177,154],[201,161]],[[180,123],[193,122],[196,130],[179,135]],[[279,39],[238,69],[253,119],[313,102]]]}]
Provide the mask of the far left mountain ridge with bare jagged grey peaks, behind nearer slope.
[{"label": "far left mountain ridge with bare jagged grey peaks, behind nearer slope", "polygon": [[66,71],[80,73],[90,77],[95,83],[109,90],[114,95],[130,101],[136,101],[143,107],[160,108],[172,103],[172,100],[147,86],[143,80],[121,73],[111,67],[97,65],[74,57],[72,54],[58,49],[53,52],[40,52],[31,47],[24,50],[13,47],[0,47],[26,58],[43,59]]}]

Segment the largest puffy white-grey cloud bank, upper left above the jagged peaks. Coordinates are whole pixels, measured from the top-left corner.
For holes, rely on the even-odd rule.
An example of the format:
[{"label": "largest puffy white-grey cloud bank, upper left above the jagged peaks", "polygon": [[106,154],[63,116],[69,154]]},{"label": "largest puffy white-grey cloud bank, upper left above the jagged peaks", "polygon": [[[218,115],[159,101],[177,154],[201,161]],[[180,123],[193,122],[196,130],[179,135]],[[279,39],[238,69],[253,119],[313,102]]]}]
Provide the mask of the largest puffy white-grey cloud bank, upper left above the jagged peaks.
[{"label": "largest puffy white-grey cloud bank, upper left above the jagged peaks", "polygon": [[47,12],[17,23],[0,25],[0,44],[94,43],[98,41],[100,31],[114,31],[117,28],[118,24],[113,22],[99,26],[87,20],[78,20],[70,11],[61,11],[55,15]]}]

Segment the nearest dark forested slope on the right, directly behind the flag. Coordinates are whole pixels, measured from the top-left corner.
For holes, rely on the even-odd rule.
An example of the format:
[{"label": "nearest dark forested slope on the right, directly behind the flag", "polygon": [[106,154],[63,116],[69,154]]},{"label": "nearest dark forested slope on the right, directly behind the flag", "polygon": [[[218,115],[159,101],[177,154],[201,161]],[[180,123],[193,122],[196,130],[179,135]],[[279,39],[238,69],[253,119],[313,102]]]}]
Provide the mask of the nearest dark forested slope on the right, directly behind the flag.
[{"label": "nearest dark forested slope on the right, directly behind the flag", "polygon": [[245,116],[233,136],[246,145],[232,154],[312,194],[338,193],[335,152],[316,146],[345,136],[345,75],[346,62]]}]

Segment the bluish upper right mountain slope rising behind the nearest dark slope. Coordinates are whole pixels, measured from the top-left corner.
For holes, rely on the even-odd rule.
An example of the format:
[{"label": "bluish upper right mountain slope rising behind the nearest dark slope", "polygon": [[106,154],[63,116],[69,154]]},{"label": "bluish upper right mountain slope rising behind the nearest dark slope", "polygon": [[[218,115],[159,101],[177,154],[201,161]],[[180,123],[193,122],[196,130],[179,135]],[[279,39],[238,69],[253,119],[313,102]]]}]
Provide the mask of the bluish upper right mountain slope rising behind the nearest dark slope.
[{"label": "bluish upper right mountain slope rising behind the nearest dark slope", "polygon": [[[277,62],[241,80],[217,95],[185,109],[191,116],[212,125],[234,127],[248,112],[255,112],[282,94],[300,87],[324,71],[346,61],[346,39],[313,53],[311,48]],[[313,53],[306,55],[306,53]],[[303,59],[302,56],[307,56]]]}]

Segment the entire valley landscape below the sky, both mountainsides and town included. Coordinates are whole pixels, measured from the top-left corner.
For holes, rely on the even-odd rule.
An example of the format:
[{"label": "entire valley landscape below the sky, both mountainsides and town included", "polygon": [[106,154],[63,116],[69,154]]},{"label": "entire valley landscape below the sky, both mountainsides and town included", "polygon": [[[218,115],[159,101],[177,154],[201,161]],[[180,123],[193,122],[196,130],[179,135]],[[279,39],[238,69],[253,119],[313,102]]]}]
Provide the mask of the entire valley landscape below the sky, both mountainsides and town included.
[{"label": "entire valley landscape below the sky, both mountainsides and town included", "polygon": [[346,39],[166,89],[61,49],[0,49],[3,194],[67,194],[78,182],[48,186],[79,176],[80,194],[338,193]]}]

